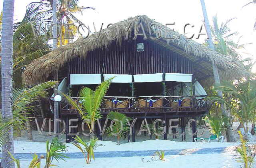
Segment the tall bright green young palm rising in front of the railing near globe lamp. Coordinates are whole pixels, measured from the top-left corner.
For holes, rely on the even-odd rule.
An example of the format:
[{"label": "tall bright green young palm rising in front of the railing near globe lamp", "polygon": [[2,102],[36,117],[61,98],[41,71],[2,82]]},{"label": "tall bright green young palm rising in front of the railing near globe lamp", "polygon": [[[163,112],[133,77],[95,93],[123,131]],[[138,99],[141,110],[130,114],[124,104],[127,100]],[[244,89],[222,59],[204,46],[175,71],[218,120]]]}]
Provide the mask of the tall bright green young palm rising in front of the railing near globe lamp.
[{"label": "tall bright green young palm rising in front of the railing near globe lamp", "polygon": [[83,120],[86,120],[90,132],[92,131],[94,122],[101,118],[99,109],[112,80],[113,78],[105,80],[95,91],[86,87],[82,88],[78,94],[79,104],[70,96],[62,93],[65,100],[81,114]]}]

